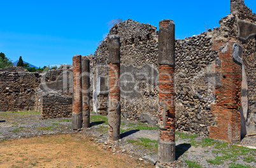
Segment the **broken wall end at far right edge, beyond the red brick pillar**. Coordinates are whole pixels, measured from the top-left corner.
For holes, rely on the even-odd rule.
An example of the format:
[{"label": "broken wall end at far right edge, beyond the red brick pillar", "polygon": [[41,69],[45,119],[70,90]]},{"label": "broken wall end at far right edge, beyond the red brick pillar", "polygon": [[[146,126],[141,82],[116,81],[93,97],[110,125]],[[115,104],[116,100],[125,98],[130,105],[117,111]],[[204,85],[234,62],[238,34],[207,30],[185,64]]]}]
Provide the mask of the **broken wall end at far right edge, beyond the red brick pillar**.
[{"label": "broken wall end at far right edge, beyond the red brick pillar", "polygon": [[[240,39],[238,22],[256,24],[256,15],[248,8],[243,0],[231,0],[231,15],[220,20],[220,27],[232,38],[236,38],[243,46],[243,68],[241,89],[241,134],[252,134],[256,132],[256,32],[248,39]],[[256,25],[255,25],[256,26]],[[242,25],[242,27],[244,27]],[[255,29],[255,28],[254,28]],[[229,31],[231,30],[231,31]],[[232,32],[232,33],[231,33]]]}]

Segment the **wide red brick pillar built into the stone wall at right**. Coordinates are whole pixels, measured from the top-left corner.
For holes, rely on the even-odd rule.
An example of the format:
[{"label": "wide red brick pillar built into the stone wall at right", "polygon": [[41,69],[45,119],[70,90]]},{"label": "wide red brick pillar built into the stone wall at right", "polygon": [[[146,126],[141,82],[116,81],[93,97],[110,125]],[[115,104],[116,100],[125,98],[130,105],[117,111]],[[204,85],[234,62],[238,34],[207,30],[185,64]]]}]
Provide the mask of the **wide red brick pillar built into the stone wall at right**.
[{"label": "wide red brick pillar built into the stone wall at right", "polygon": [[220,65],[216,71],[220,72],[220,86],[215,88],[216,104],[211,106],[211,113],[217,116],[218,124],[211,126],[209,137],[236,143],[241,138],[241,67],[233,60],[234,41],[214,41],[213,51],[225,47],[219,52]]}]

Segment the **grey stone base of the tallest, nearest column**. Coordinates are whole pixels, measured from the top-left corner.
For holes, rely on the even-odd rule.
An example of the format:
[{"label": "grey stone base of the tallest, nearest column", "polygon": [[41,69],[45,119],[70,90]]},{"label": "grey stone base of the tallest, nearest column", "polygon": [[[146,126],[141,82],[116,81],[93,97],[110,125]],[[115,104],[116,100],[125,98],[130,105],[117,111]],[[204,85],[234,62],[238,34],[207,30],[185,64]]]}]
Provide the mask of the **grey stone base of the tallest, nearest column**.
[{"label": "grey stone base of the tallest, nearest column", "polygon": [[158,140],[158,160],[160,163],[171,163],[176,160],[175,142]]}]

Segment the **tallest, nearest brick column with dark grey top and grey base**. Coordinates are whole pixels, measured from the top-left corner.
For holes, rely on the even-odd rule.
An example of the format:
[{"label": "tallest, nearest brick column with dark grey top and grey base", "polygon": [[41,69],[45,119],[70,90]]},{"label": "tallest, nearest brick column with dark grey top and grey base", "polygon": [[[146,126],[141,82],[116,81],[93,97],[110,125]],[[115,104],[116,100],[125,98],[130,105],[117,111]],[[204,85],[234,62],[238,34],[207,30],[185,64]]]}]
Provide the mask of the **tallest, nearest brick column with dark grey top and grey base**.
[{"label": "tallest, nearest brick column with dark grey top and grey base", "polygon": [[170,163],[175,160],[174,33],[173,20],[161,20],[159,22],[158,157],[161,163]]}]

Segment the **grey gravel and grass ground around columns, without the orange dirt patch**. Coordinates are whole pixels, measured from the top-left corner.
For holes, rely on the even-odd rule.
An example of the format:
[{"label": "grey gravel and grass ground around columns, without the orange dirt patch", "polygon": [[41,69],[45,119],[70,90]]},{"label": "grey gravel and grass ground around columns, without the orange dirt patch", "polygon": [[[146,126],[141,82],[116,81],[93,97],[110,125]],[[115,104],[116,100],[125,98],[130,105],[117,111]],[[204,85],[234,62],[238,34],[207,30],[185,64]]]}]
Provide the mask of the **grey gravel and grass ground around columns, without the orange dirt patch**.
[{"label": "grey gravel and grass ground around columns, without the orange dirt patch", "polygon": [[[102,150],[112,155],[127,155],[163,167],[156,161],[157,127],[146,123],[122,120],[121,139],[107,141],[108,118],[92,114],[91,127],[80,132],[71,130],[71,118],[41,120],[36,111],[0,112],[0,141],[40,135],[86,135]],[[176,132],[176,162],[167,167],[253,167],[256,165],[256,136],[248,136],[239,144],[213,141],[197,134]],[[0,143],[1,146],[1,143]],[[249,148],[246,148],[248,146]],[[253,149],[254,148],[254,149]],[[1,162],[0,162],[1,163]]]}]

